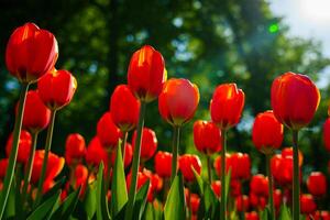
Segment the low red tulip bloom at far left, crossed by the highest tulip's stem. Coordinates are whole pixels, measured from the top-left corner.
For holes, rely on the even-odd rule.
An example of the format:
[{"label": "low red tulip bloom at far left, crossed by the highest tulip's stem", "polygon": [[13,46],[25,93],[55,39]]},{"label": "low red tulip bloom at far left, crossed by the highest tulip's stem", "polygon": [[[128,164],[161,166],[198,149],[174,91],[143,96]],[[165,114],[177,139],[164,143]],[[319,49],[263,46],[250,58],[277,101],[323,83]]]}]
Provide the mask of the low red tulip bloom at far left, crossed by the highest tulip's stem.
[{"label": "low red tulip bloom at far left, crossed by the highest tulip's stem", "polygon": [[[13,134],[11,133],[7,144],[6,144],[6,154],[10,155],[12,148]],[[18,162],[25,164],[29,160],[30,151],[32,145],[32,138],[28,131],[22,130],[19,141],[19,152],[18,152]]]}]

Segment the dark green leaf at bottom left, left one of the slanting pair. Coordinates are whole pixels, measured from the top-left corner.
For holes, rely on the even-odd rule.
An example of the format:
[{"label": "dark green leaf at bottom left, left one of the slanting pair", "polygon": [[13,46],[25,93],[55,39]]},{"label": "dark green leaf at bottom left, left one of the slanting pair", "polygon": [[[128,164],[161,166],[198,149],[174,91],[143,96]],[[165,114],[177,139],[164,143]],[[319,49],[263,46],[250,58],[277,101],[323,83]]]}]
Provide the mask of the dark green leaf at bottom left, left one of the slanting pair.
[{"label": "dark green leaf at bottom left, left one of the slanting pair", "polygon": [[45,219],[52,213],[54,206],[59,201],[61,190],[40,205],[29,217],[28,220]]}]

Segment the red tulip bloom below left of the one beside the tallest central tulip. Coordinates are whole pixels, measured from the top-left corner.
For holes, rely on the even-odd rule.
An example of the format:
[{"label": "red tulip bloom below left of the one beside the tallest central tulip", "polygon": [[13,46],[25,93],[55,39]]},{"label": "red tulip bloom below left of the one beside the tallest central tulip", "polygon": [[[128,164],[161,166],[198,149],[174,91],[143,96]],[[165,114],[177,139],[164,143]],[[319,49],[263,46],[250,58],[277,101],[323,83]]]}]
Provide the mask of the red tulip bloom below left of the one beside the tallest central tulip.
[{"label": "red tulip bloom below left of the one beside the tallest central tulip", "polygon": [[120,129],[113,123],[110,112],[106,112],[100,118],[97,133],[102,146],[110,152],[117,148],[118,142],[122,136]]}]

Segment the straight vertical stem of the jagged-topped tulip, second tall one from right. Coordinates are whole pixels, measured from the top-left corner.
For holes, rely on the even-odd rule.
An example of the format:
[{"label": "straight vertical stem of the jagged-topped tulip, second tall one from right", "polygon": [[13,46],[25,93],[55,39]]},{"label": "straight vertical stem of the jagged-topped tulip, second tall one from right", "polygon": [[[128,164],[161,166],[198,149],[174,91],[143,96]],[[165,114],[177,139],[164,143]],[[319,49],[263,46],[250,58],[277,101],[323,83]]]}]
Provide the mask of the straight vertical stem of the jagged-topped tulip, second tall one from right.
[{"label": "straight vertical stem of the jagged-topped tulip, second tall one from right", "polygon": [[221,130],[222,151],[221,151],[221,202],[220,202],[220,220],[226,220],[226,151],[227,151],[227,131]]}]

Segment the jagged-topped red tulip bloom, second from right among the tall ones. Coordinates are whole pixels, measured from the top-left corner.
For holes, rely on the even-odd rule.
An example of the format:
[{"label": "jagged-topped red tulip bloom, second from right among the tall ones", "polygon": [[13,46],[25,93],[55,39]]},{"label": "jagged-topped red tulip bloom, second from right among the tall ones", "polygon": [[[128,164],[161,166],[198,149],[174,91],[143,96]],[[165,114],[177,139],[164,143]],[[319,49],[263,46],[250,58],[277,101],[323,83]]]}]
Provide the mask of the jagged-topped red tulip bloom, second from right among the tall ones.
[{"label": "jagged-topped red tulip bloom, second from right among the tall ones", "polygon": [[244,92],[235,84],[218,86],[210,102],[212,121],[221,130],[234,127],[240,121],[244,99]]}]

